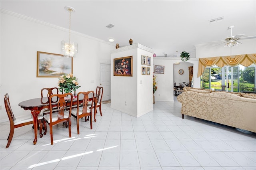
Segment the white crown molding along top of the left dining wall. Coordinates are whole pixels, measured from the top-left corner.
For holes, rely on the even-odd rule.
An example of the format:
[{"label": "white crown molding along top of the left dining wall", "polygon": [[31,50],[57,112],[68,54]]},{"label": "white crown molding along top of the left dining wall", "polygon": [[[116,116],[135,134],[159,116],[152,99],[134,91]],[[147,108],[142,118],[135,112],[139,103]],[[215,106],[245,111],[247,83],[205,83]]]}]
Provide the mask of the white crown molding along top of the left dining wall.
[{"label": "white crown molding along top of the left dining wall", "polygon": [[[64,31],[64,32],[69,32],[68,29],[66,28],[62,28],[60,26],[56,26],[56,25],[53,25],[53,24],[49,24],[47,22],[43,22],[43,21],[40,21],[40,20],[36,20],[34,18],[30,18],[28,16],[24,16],[24,15],[21,15],[21,14],[17,14],[15,12],[11,12],[9,10],[6,10],[4,8],[0,8],[0,12],[3,13],[3,14],[7,14],[7,15],[10,15],[10,16],[14,16],[14,17],[17,17],[17,18],[21,18],[23,20],[28,20],[30,22],[34,22],[34,23],[37,23],[37,24],[41,24],[41,25],[44,25],[44,26],[48,26],[48,27],[51,27],[51,28],[54,28],[54,29],[57,29],[57,30],[61,30],[61,31]],[[109,42],[105,42],[104,40],[100,40],[98,38],[94,38],[94,37],[91,37],[91,36],[88,36],[88,35],[85,35],[85,34],[81,34],[79,32],[75,32],[75,31],[72,31],[72,34],[76,34],[78,36],[82,36],[84,38],[89,38],[91,40],[95,40],[95,41],[98,41],[98,42],[102,42],[102,43],[106,43],[108,45],[113,45],[112,43],[109,43]],[[114,46],[114,45],[113,45]]]}]

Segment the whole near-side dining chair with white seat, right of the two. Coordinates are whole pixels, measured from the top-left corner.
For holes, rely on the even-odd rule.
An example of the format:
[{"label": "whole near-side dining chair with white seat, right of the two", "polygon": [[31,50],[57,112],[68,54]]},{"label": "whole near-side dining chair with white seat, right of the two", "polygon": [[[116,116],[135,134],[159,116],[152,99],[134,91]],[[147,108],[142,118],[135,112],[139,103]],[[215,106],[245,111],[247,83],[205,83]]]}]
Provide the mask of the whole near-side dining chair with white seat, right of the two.
[{"label": "whole near-side dining chair with white seat, right of the two", "polygon": [[[77,128],[77,134],[79,134],[79,119],[82,117],[85,117],[85,121],[89,121],[90,117],[90,125],[92,129],[92,108],[90,107],[90,98],[92,99],[92,103],[94,103],[94,91],[87,91],[87,92],[79,92],[77,94],[77,101],[82,100],[81,103],[77,102],[76,108],[71,110],[71,115],[76,118],[76,128]],[[90,106],[89,106],[90,105]],[[88,119],[87,119],[88,116]]]}]

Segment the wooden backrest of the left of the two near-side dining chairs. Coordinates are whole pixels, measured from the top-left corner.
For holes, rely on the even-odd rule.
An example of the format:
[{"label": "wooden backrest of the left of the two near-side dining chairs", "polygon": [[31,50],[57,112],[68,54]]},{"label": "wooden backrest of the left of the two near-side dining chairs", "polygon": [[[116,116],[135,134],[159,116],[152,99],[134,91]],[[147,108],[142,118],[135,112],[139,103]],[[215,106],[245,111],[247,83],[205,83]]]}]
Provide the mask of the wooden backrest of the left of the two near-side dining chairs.
[{"label": "wooden backrest of the left of the two near-side dining chairs", "polygon": [[[67,98],[68,95],[70,96],[70,98]],[[58,99],[58,103],[54,102],[56,100],[52,100],[52,98],[57,98]],[[73,103],[73,95],[72,93],[64,93],[64,94],[55,94],[55,95],[51,95],[49,98],[50,101],[50,123],[52,123],[52,110],[53,108],[55,109],[57,107],[58,109],[58,120],[60,119],[65,119],[64,118],[64,111],[66,110],[66,107],[69,106],[67,105],[67,103],[70,104],[70,107],[72,106]],[[55,106],[57,105],[57,106]],[[71,116],[71,109],[69,109],[69,117]]]}]

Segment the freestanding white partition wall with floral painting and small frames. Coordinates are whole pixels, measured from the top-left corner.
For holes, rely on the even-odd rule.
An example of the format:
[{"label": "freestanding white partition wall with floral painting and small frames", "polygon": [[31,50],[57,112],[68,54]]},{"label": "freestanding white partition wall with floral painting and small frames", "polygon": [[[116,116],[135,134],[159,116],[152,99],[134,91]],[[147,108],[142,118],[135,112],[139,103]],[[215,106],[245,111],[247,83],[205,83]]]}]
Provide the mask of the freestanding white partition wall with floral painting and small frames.
[{"label": "freestanding white partition wall with floral painting and small frames", "polygon": [[[148,49],[148,50],[145,50]],[[114,69],[111,71],[111,108],[122,111],[134,117],[140,117],[153,110],[153,79],[150,75],[141,75],[141,55],[152,56],[153,53],[148,47],[141,44],[133,44],[111,51],[111,60],[115,58],[132,56],[132,77],[114,76]],[[152,57],[151,57],[152,59]],[[111,68],[114,68],[113,62]]]}]

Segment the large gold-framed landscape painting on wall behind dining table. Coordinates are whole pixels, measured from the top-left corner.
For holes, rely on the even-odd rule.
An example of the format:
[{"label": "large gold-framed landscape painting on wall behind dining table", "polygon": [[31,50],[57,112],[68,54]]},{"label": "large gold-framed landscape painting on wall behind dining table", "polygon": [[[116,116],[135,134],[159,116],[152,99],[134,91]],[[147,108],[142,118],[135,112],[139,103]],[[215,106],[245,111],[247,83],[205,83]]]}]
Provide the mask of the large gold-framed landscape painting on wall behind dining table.
[{"label": "large gold-framed landscape painting on wall behind dining table", "polygon": [[36,77],[60,77],[73,73],[73,58],[37,51]]}]

